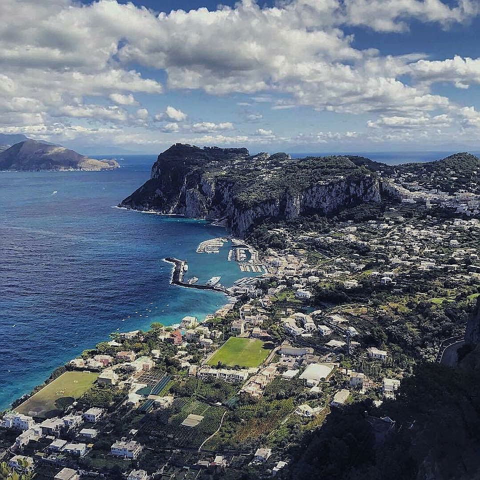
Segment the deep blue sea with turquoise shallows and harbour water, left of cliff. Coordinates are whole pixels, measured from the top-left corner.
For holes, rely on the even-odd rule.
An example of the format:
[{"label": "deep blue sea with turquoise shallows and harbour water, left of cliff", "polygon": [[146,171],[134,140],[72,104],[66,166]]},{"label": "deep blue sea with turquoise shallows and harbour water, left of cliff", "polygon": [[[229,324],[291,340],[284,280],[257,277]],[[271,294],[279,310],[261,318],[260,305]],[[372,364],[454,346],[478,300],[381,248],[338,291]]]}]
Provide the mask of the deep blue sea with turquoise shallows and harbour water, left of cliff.
[{"label": "deep blue sea with turquoise shallows and harbour water, left of cliff", "polygon": [[0,172],[0,409],[112,331],[203,318],[225,303],[222,293],[170,285],[165,256],[187,259],[200,282],[244,276],[226,261],[226,245],[220,254],[195,251],[225,229],[114,207],[154,160],[125,156],[112,171]]}]

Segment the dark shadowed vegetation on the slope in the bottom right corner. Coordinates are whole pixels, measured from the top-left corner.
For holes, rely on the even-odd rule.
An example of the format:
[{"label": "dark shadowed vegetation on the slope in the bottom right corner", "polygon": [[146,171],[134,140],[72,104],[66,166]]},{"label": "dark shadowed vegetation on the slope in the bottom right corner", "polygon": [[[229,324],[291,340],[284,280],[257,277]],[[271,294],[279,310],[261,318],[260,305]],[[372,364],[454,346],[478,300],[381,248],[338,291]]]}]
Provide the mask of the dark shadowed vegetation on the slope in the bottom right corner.
[{"label": "dark shadowed vegetation on the slope in the bottom right corner", "polygon": [[[396,401],[377,410],[368,401],[332,412],[304,437],[280,478],[403,480],[478,478],[480,386],[478,371],[420,364],[405,379]],[[396,424],[376,438],[364,411],[388,414]]]}]

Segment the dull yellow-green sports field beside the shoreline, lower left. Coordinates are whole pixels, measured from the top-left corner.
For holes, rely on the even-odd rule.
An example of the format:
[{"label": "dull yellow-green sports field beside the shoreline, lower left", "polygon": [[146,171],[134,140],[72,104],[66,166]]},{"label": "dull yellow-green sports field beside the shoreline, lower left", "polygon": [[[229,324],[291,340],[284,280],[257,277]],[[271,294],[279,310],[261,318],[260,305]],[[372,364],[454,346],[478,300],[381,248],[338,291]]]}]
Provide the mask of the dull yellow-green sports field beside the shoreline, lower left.
[{"label": "dull yellow-green sports field beside the shoreline, lower left", "polygon": [[56,400],[78,398],[90,388],[97,376],[98,373],[89,371],[66,371],[18,405],[15,410],[25,415],[50,416],[57,410]]}]

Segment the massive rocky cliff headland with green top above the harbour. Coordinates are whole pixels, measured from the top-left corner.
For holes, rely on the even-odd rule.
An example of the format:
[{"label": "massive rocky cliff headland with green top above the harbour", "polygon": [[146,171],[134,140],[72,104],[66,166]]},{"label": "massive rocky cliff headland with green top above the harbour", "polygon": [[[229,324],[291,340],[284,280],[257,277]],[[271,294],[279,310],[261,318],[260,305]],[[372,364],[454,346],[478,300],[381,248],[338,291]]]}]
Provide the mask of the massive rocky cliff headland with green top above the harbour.
[{"label": "massive rocky cliff headland with green top above the harbour", "polygon": [[150,179],[119,206],[223,219],[243,236],[265,218],[329,214],[377,200],[376,175],[347,157],[291,159],[285,153],[176,144],[158,155]]}]

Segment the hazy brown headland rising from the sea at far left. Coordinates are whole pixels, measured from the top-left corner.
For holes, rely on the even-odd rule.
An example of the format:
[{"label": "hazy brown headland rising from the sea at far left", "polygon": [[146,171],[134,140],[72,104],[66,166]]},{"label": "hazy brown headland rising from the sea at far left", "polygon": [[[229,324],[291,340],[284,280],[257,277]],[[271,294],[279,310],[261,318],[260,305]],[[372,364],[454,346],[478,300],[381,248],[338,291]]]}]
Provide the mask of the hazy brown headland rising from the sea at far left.
[{"label": "hazy brown headland rising from the sea at far left", "polygon": [[0,151],[0,170],[104,170],[116,160],[96,160],[59,145],[26,139]]}]

